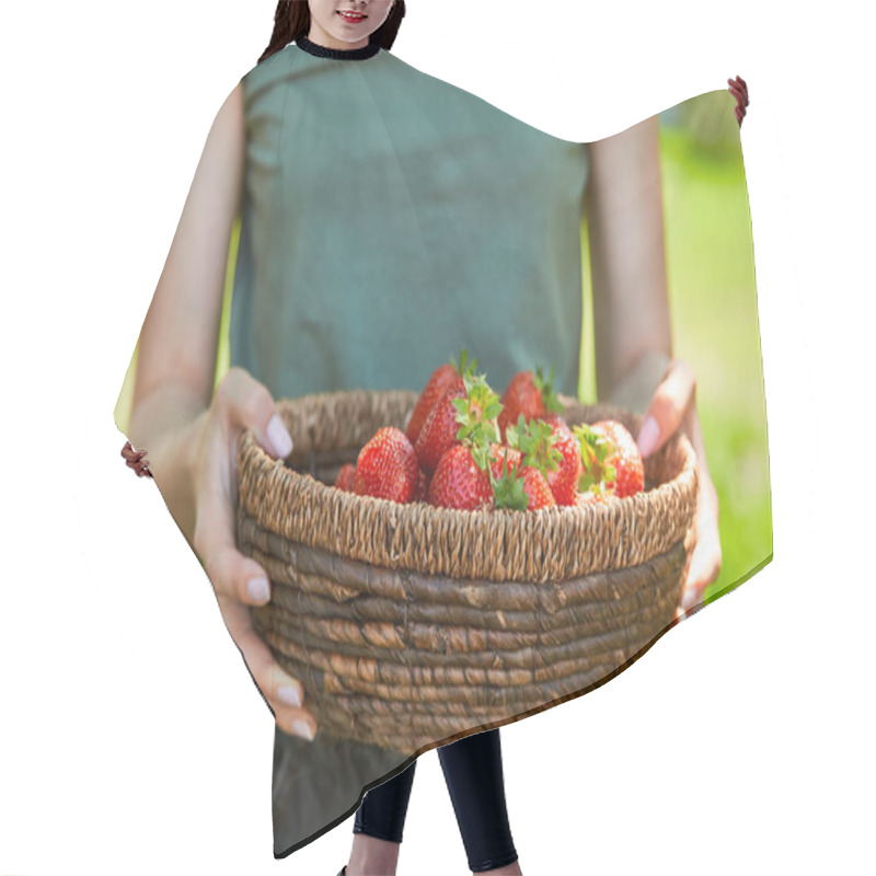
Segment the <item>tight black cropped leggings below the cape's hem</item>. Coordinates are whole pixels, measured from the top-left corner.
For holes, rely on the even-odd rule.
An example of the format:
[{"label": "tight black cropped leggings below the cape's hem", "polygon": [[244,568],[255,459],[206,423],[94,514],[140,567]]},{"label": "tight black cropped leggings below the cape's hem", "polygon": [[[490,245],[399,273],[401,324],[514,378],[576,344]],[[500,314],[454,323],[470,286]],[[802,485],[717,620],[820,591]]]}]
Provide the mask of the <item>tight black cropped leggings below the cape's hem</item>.
[{"label": "tight black cropped leggings below the cape's hem", "polygon": [[[442,746],[438,758],[471,871],[480,873],[512,864],[517,852],[505,805],[498,729]],[[402,841],[416,765],[414,761],[404,772],[365,795],[356,811],[354,833]]]}]

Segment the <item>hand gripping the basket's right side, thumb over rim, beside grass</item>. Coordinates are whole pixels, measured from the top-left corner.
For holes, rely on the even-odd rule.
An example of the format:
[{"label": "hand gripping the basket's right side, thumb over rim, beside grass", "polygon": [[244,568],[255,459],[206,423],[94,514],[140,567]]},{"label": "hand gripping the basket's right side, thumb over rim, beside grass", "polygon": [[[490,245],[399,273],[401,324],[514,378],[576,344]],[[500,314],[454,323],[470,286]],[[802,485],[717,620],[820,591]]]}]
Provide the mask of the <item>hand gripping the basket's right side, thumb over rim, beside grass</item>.
[{"label": "hand gripping the basket's right side, thumb over rim, beside grass", "polygon": [[695,393],[696,381],[691,367],[682,359],[671,360],[654,392],[636,439],[644,459],[659,450],[681,429],[696,453],[699,491],[693,526],[695,544],[676,616],[684,616],[689,610],[702,604],[705,588],[717,578],[722,560],[718,495],[708,474]]}]

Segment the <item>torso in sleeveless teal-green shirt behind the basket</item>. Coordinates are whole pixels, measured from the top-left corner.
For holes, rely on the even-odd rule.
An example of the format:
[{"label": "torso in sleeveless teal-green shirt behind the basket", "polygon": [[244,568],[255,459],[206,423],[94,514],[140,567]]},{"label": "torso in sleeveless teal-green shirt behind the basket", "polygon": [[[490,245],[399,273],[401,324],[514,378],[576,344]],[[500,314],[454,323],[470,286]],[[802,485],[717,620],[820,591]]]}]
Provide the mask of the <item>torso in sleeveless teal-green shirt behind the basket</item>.
[{"label": "torso in sleeveless teal-green shirt behind the basket", "polygon": [[499,393],[554,365],[576,394],[585,143],[382,49],[289,44],[242,81],[232,366],[275,397],[419,390],[466,347]]}]

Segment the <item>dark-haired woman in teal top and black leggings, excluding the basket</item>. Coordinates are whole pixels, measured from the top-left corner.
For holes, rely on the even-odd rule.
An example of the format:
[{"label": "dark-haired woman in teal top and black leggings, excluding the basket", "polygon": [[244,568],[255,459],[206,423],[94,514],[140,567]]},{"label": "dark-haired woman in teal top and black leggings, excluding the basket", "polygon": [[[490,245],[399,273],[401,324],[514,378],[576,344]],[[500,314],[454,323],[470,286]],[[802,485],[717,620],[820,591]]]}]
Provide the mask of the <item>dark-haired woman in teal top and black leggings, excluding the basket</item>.
[{"label": "dark-haired woman in teal top and black leggings, excluding the basket", "polygon": [[[599,395],[647,403],[646,456],[682,428],[700,461],[685,608],[721,562],[693,377],[669,359],[662,247],[646,249],[661,241],[657,119],[589,149],[543,135],[389,54],[403,16],[401,0],[279,3],[268,49],[210,130],[140,336],[129,428],[276,717],[278,855],[395,773],[357,812],[347,876],[394,873],[414,763],[402,772],[405,752],[316,735],[307,692],[253,630],[250,607],[270,592],[264,569],[235,549],[235,453],[243,429],[275,457],[290,452],[274,399],[422,387],[463,345],[489,362],[494,385],[541,358],[575,394],[586,191]],[[214,392],[239,209],[232,367]],[[481,319],[497,295],[503,337]],[[498,730],[439,756],[472,872],[521,873]]]}]

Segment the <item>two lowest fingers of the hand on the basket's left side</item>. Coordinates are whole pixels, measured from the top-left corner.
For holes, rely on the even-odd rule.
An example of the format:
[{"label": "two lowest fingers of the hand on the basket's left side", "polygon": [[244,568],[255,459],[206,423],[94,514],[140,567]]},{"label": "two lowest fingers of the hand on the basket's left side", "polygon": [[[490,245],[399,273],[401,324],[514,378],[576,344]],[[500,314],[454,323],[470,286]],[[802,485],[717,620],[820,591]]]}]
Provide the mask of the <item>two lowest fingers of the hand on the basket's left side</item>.
[{"label": "two lowest fingers of the hand on the basket's left side", "polygon": [[255,632],[245,606],[226,597],[218,597],[218,601],[228,632],[240,648],[253,681],[267,700],[277,725],[291,736],[313,739],[316,719],[306,707],[301,682],[283,671]]}]

